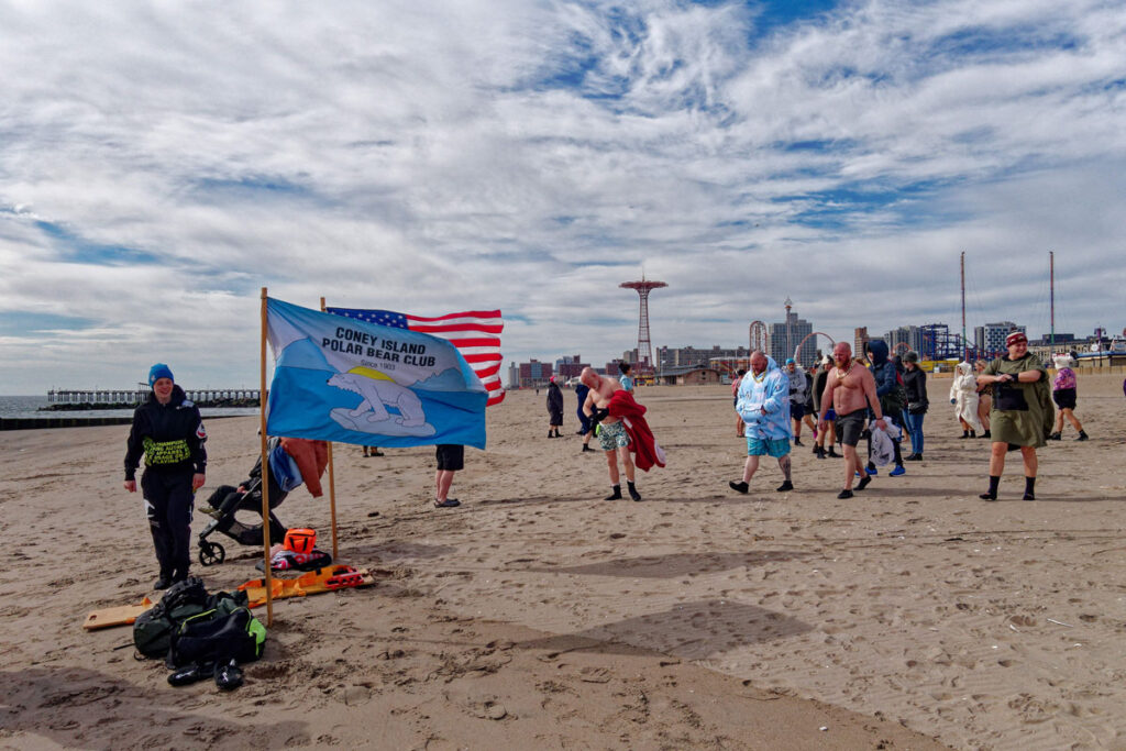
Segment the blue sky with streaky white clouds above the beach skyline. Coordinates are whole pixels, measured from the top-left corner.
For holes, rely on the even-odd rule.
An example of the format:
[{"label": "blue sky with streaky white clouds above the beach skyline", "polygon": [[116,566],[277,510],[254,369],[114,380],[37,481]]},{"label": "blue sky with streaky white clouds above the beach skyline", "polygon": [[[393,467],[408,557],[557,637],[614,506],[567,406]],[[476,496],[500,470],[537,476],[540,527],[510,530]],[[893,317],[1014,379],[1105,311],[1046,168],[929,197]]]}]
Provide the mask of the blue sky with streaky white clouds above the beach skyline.
[{"label": "blue sky with streaky white clouds above the beach skyline", "polygon": [[260,290],[637,342],[1126,327],[1120,0],[0,0],[0,394],[256,386]]}]

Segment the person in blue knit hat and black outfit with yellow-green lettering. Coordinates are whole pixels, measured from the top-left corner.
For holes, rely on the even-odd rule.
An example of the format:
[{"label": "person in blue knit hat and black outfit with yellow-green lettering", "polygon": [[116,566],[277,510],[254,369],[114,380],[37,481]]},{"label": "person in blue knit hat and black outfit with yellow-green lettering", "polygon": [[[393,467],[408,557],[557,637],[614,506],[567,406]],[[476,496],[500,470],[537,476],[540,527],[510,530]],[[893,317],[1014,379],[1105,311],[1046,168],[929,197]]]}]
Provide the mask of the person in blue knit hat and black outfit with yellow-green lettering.
[{"label": "person in blue knit hat and black outfit with yellow-green lettering", "polygon": [[144,455],[141,492],[160,563],[155,589],[188,578],[195,491],[206,482],[207,452],[199,408],[173,383],[163,363],[149,370],[149,400],[133,412],[125,452],[125,490],[136,492],[136,468]]}]

